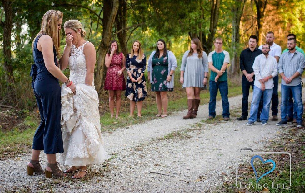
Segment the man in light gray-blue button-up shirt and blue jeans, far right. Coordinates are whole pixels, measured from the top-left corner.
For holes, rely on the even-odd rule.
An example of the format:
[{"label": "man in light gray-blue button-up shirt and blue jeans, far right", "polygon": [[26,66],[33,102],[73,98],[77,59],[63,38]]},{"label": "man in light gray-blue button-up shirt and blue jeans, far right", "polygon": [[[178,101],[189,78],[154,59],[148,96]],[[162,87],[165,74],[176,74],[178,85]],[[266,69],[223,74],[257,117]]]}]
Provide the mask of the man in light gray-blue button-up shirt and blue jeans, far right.
[{"label": "man in light gray-blue button-up shirt and blue jeans, far right", "polygon": [[305,67],[305,58],[301,52],[296,50],[297,40],[290,38],[287,41],[288,52],[281,55],[278,62],[278,73],[282,77],[281,83],[281,118],[282,120],[276,125],[287,124],[287,103],[289,92],[292,92],[295,111],[297,112],[297,127],[303,124],[303,102],[302,102],[302,73]]}]

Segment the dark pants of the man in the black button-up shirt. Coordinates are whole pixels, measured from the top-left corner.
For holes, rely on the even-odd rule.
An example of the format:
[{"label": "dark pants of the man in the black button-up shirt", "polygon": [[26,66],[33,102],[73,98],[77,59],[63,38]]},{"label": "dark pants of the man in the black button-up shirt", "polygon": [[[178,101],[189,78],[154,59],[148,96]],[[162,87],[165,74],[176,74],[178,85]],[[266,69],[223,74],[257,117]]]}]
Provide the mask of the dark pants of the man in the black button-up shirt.
[{"label": "dark pants of the man in the black button-up shirt", "polygon": [[255,76],[252,77],[253,81],[249,82],[245,75],[242,75],[242,116],[247,118],[248,116],[248,97],[249,97],[249,91],[250,87],[254,86],[254,80]]}]

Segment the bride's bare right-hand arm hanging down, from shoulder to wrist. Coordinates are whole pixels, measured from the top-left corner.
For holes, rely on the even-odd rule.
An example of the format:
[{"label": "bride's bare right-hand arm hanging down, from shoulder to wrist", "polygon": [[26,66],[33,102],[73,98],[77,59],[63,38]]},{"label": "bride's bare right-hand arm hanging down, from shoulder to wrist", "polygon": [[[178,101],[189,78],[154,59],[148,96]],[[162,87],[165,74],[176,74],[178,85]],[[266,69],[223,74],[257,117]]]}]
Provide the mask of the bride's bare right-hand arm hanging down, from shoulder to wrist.
[{"label": "bride's bare right-hand arm hanging down, from shoulder to wrist", "polygon": [[86,68],[87,68],[85,84],[92,85],[93,76],[94,76],[94,66],[96,62],[96,52],[95,52],[95,47],[91,42],[88,42],[84,46],[84,55],[86,57]]}]

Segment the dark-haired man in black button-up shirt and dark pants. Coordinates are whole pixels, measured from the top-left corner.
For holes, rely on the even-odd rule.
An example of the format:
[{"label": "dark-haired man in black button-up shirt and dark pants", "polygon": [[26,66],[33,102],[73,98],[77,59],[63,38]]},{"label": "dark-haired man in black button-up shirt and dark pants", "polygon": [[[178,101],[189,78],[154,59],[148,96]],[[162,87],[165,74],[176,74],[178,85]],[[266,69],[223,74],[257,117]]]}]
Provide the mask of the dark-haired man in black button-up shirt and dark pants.
[{"label": "dark-haired man in black button-up shirt and dark pants", "polygon": [[256,35],[249,37],[247,49],[242,50],[239,59],[240,70],[242,71],[242,116],[237,120],[246,120],[248,116],[249,90],[254,85],[254,72],[252,65],[256,56],[262,54],[262,50],[257,49],[258,38]]}]

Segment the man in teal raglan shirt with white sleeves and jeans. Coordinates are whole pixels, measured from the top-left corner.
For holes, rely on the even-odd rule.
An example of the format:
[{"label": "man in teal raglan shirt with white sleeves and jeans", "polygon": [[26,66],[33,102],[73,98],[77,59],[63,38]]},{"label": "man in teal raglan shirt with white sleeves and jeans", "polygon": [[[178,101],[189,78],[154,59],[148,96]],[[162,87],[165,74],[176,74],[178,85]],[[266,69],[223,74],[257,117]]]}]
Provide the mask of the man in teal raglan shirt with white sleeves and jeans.
[{"label": "man in teal raglan shirt with white sleeves and jeans", "polygon": [[227,82],[227,65],[230,62],[230,55],[222,49],[223,41],[221,38],[214,40],[215,50],[210,52],[208,56],[208,64],[211,69],[210,76],[210,102],[209,102],[209,118],[214,119],[216,116],[216,96],[219,89],[222,100],[222,117],[223,120],[229,120],[229,101],[228,101],[228,82]]}]

